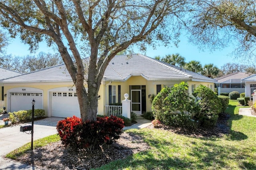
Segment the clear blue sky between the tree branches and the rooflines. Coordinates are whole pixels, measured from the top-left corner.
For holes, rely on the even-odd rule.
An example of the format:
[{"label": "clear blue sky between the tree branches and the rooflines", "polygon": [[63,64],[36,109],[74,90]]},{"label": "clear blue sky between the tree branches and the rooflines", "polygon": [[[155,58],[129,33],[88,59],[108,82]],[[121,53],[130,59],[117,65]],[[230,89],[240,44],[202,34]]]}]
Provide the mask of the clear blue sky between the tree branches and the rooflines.
[{"label": "clear blue sky between the tree branches and the rooflines", "polygon": [[[222,50],[216,50],[210,52],[210,50],[205,49],[204,51],[199,51],[198,47],[188,43],[186,38],[182,38],[179,43],[179,47],[164,47],[159,46],[156,49],[152,49],[152,47],[148,47],[146,54],[142,53],[136,49],[134,49],[134,53],[142,53],[147,55],[148,57],[154,58],[157,55],[164,57],[168,54],[179,53],[181,56],[185,57],[186,62],[191,60],[200,61],[202,65],[213,63],[218,68],[221,68],[222,65],[230,62],[230,63],[238,63],[238,59],[235,59],[234,56],[231,55],[232,51],[234,51],[234,47],[226,47]],[[45,43],[40,43],[39,50],[44,51],[45,53],[56,53],[58,51],[54,51],[53,48],[47,47]],[[10,44],[6,49],[7,54],[12,54],[16,56],[24,56],[29,55],[29,46],[22,43],[19,39],[11,39]],[[37,54],[36,53],[36,54]],[[244,63],[246,64],[246,63]]]}]

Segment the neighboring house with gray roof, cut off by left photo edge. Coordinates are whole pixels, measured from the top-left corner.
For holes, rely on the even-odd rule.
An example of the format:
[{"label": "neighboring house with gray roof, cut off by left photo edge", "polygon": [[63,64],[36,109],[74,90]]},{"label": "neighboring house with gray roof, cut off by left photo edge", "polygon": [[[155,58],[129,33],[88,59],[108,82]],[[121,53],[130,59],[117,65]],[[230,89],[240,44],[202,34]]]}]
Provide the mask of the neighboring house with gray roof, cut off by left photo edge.
[{"label": "neighboring house with gray roof, cut off by left photo edge", "polygon": [[[9,69],[4,69],[4,68],[0,67],[0,80],[14,77],[17,75],[22,75],[22,73],[19,73],[17,71],[12,71]],[[2,83],[0,83],[0,86],[1,86],[1,89],[0,89],[1,100],[0,101],[4,101],[4,97],[6,97],[6,93],[4,93],[4,85]],[[0,109],[2,109],[2,108],[0,108]]]}]

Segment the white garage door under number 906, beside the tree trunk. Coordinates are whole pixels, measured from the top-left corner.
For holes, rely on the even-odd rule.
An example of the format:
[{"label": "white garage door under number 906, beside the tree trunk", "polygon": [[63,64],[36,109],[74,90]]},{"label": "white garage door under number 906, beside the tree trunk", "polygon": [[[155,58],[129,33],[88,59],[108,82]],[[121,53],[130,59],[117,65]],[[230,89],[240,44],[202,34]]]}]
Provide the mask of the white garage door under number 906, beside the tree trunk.
[{"label": "white garage door under number 906, beside the tree trunk", "polygon": [[76,117],[80,116],[80,109],[75,92],[52,92],[52,116]]}]

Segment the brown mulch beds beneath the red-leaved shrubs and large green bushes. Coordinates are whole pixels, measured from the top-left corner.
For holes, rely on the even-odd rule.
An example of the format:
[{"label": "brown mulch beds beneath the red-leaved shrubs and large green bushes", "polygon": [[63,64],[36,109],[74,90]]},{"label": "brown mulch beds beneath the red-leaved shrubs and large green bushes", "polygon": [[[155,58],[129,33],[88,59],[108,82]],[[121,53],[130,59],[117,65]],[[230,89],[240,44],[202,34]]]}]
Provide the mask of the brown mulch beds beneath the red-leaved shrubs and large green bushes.
[{"label": "brown mulch beds beneath the red-leaved shrubs and large green bushes", "polygon": [[[185,128],[173,128],[160,125],[162,130],[170,130],[177,134],[193,136],[197,138],[217,136],[229,133],[227,120],[229,115],[222,114],[214,128],[198,128],[196,130]],[[146,128],[154,128],[150,125]],[[82,150],[74,152],[70,148],[64,147],[61,142],[54,142],[47,146],[36,148],[33,152],[28,152],[18,158],[18,161],[34,165],[40,169],[47,170],[87,170],[100,167],[111,161],[124,159],[134,153],[150,149],[141,136],[124,132],[120,139],[116,140],[112,146],[105,150],[89,152]]]}]

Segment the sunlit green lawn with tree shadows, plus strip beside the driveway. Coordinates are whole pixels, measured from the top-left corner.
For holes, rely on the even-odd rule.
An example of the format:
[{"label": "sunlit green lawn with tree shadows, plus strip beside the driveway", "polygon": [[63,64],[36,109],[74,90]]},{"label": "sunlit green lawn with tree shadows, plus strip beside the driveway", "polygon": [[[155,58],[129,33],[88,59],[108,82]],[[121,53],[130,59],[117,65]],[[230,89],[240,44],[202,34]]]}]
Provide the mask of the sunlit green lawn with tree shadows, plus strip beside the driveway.
[{"label": "sunlit green lawn with tree shadows, plus strip beside the driveway", "polygon": [[[195,138],[157,128],[127,130],[143,136],[152,148],[124,160],[111,162],[97,170],[256,169],[256,117],[238,115],[240,107],[236,105],[236,100],[230,100],[227,109],[231,115],[228,121],[230,134],[222,138]],[[49,142],[44,139],[40,141],[41,146]],[[16,150],[9,157],[22,154],[24,150],[30,149],[29,146],[30,144]],[[37,144],[34,146],[37,147]]]}]

